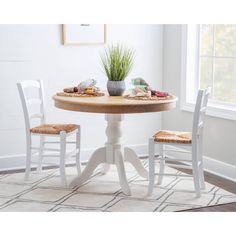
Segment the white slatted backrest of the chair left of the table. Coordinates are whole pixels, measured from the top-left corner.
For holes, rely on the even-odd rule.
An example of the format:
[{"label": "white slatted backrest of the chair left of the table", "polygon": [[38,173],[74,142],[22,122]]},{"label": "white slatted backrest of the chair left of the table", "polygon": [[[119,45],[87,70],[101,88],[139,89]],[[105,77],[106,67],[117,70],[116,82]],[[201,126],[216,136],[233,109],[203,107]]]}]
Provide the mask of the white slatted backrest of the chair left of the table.
[{"label": "white slatted backrest of the chair left of the table", "polygon": [[[33,120],[38,119],[39,124],[45,123],[43,81],[25,80],[17,83],[17,87],[23,107],[26,132],[29,132]],[[33,96],[31,93],[29,98],[27,92],[32,92]]]}]

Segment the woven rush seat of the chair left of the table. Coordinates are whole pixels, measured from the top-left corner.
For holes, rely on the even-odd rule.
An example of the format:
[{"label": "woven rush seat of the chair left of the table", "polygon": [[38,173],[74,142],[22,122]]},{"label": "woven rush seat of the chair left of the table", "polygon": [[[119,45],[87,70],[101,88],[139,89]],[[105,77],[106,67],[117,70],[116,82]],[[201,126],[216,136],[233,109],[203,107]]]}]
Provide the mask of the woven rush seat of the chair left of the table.
[{"label": "woven rush seat of the chair left of the table", "polygon": [[30,129],[30,132],[37,134],[59,134],[61,131],[65,131],[70,133],[79,127],[76,124],[43,124]]}]

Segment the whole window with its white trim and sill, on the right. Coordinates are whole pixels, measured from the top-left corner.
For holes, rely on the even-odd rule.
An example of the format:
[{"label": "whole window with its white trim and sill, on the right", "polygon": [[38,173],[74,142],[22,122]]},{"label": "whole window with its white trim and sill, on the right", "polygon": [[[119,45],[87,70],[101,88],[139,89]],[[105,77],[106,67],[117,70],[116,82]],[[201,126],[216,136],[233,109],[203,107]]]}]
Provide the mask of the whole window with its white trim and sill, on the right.
[{"label": "whole window with its white trim and sill, on the right", "polygon": [[236,25],[183,26],[181,107],[212,87],[208,114],[236,120]]}]

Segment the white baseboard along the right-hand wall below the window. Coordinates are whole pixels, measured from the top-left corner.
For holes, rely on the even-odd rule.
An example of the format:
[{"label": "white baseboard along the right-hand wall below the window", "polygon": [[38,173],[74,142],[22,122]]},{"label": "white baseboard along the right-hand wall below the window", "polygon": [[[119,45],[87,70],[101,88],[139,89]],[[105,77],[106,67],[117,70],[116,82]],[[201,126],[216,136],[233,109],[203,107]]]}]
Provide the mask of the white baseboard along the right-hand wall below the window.
[{"label": "white baseboard along the right-hand wall below the window", "polygon": [[[169,145],[169,147],[173,150],[179,150],[179,151],[184,150],[183,148],[182,149],[177,148],[176,146]],[[174,152],[170,152],[170,153],[174,153]],[[175,153],[176,157],[179,157],[179,155],[185,155],[187,157],[187,154]],[[173,155],[169,154],[169,156],[173,156]],[[236,182],[236,166],[222,162],[222,161],[215,160],[207,156],[203,156],[203,162],[204,162],[205,171]]]}]

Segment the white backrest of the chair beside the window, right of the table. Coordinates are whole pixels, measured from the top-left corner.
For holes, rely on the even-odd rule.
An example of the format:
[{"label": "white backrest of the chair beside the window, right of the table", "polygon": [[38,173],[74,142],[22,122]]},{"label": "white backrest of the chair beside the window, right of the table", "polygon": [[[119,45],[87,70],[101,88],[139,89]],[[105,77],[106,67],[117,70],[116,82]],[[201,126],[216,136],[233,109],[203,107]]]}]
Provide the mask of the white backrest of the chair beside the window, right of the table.
[{"label": "white backrest of the chair beside the window, right of the table", "polygon": [[199,90],[193,117],[192,140],[193,143],[202,139],[207,102],[211,93],[211,87]]}]

